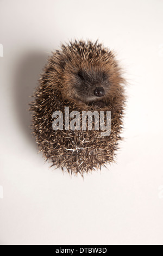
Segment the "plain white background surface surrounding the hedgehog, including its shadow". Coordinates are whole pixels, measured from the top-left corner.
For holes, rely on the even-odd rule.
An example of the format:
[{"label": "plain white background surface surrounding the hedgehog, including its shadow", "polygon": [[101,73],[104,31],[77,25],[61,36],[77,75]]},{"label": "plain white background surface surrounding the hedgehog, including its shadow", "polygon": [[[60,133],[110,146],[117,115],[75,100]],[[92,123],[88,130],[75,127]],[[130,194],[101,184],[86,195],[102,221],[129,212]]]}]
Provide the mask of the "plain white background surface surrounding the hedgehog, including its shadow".
[{"label": "plain white background surface surrounding the hedgehog, including its shadow", "polygon": [[[0,0],[1,245],[163,244],[162,25],[162,0]],[[128,80],[117,164],[84,180],[49,169],[28,127],[47,56],[75,38],[114,49]]]}]

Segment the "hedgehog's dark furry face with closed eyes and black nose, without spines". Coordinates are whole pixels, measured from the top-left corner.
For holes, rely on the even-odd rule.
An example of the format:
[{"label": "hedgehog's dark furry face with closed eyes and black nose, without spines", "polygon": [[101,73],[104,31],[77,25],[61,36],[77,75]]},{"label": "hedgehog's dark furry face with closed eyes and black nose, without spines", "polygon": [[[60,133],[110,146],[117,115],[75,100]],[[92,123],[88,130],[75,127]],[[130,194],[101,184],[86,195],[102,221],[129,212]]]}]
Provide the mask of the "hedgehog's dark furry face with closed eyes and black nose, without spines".
[{"label": "hedgehog's dark furry face with closed eyes and black nose, without spines", "polygon": [[74,97],[85,103],[102,100],[109,87],[109,77],[104,71],[80,69],[74,74]]}]

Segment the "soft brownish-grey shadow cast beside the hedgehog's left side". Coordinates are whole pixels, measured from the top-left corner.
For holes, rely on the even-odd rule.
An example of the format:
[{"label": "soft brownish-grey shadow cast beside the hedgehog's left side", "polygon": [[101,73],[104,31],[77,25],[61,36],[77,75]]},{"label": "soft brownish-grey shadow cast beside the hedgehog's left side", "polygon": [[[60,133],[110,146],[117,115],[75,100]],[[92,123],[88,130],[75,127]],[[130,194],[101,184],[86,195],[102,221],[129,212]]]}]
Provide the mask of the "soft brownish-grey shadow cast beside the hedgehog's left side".
[{"label": "soft brownish-grey shadow cast beside the hedgehog's left side", "polygon": [[[31,134],[31,119],[32,113],[29,109],[29,102],[33,100],[35,87],[38,85],[38,80],[42,72],[43,66],[47,63],[48,53],[45,52],[29,52],[22,56],[20,64],[17,66],[15,74],[15,104],[18,120],[24,135],[28,141],[35,143],[35,139]],[[35,147],[37,147],[35,143]]]}]

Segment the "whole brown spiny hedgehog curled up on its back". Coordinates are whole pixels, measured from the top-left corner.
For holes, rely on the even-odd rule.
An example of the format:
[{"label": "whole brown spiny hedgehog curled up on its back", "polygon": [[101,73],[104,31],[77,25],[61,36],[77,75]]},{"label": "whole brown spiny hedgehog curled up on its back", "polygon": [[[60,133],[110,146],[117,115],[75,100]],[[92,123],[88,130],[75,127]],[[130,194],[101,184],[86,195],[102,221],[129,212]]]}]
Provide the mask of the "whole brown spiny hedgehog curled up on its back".
[{"label": "whole brown spiny hedgehog curled up on its back", "polygon": [[[75,40],[53,52],[30,104],[36,143],[52,166],[83,175],[114,162],[125,83],[114,54],[98,41]],[[108,135],[102,124],[97,129],[101,122],[111,128]]]}]

